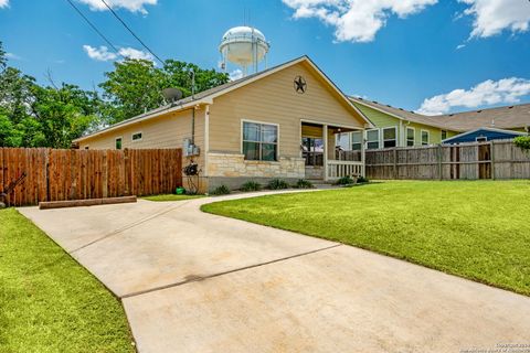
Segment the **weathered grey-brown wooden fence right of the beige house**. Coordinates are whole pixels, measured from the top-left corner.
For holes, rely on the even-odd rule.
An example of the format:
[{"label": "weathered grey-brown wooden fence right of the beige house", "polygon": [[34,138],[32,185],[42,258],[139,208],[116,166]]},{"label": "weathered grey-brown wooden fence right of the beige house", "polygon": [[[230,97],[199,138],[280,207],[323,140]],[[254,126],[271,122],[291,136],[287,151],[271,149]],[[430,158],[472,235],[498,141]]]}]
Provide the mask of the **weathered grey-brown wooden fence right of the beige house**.
[{"label": "weathered grey-brown wooden fence right of the beige house", "polygon": [[511,140],[365,152],[370,179],[530,179],[530,152]]}]

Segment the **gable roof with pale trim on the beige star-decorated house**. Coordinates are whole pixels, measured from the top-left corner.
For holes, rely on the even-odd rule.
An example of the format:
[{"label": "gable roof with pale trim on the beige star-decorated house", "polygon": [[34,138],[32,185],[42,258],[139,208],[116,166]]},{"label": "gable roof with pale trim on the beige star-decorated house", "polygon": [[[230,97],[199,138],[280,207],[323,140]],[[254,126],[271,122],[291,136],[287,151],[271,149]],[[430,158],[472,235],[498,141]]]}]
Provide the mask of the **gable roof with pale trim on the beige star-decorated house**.
[{"label": "gable roof with pale trim on the beige star-decorated house", "polygon": [[112,130],[115,130],[115,129],[118,129],[118,128],[121,128],[124,126],[128,126],[128,125],[131,125],[131,124],[135,124],[135,122],[148,120],[148,119],[155,118],[155,117],[157,117],[161,114],[184,110],[184,109],[188,109],[188,108],[191,108],[195,105],[201,105],[201,104],[213,104],[213,98],[215,98],[215,97],[227,94],[229,92],[232,92],[234,89],[246,86],[246,85],[248,85],[248,84],[251,84],[255,81],[267,77],[267,76],[269,76],[269,75],[272,75],[272,74],[274,74],[278,71],[282,71],[284,68],[290,67],[293,65],[296,65],[296,64],[303,63],[303,62],[309,64],[309,66],[311,66],[317,72],[317,74],[319,74],[326,81],[326,83],[330,86],[330,88],[332,90],[335,90],[339,95],[339,97],[341,97],[343,99],[343,101],[347,104],[347,106],[350,107],[350,109],[352,109],[353,111],[356,111],[365,121],[365,124],[369,127],[373,127],[373,124],[370,121],[370,119],[361,110],[359,110],[350,101],[350,99],[348,99],[348,96],[344,95],[331,79],[329,79],[329,77],[309,58],[309,56],[304,55],[304,56],[297,57],[295,60],[288,61],[284,64],[273,66],[273,67],[269,67],[269,68],[264,69],[262,72],[245,76],[243,78],[235,79],[235,81],[225,83],[223,85],[220,85],[220,86],[200,92],[198,94],[194,94],[193,96],[182,98],[182,99],[177,100],[172,104],[163,105],[159,108],[149,110],[145,114],[138,115],[136,117],[129,118],[127,120],[124,120],[124,121],[120,121],[120,122],[117,122],[117,124],[114,124],[114,125],[112,125],[112,126],[109,126],[105,129],[98,130],[94,133],[80,137],[80,138],[73,140],[73,142],[78,142],[78,141],[82,141],[84,139],[87,139],[87,138],[91,138],[91,137],[94,137],[94,136],[97,136],[97,135],[100,135],[100,133],[104,133],[104,132],[108,132],[108,131],[112,131]]}]

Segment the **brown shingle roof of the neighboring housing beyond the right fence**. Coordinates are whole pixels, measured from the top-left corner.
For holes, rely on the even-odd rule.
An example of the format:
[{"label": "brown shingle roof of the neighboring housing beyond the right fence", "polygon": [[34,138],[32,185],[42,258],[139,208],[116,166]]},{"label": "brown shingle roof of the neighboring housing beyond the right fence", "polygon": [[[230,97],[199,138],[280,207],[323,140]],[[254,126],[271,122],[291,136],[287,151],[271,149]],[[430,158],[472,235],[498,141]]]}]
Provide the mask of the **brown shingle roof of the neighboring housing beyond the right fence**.
[{"label": "brown shingle roof of the neighboring housing beyond the right fence", "polygon": [[350,97],[352,101],[385,113],[398,119],[434,126],[453,131],[469,131],[481,127],[515,129],[530,126],[530,104],[487,108],[473,111],[426,116],[415,111],[395,108],[374,100]]}]

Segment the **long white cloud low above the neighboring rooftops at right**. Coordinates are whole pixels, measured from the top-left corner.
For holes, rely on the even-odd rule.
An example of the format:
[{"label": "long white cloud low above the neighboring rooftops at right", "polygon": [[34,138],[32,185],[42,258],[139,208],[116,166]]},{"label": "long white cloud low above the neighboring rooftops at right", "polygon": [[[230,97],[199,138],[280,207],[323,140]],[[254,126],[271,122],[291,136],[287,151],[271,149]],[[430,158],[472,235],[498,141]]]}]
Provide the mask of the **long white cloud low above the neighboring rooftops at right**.
[{"label": "long white cloud low above the neighboring rooftops at right", "polygon": [[470,89],[454,89],[448,94],[423,100],[417,113],[441,115],[453,107],[477,108],[496,104],[513,104],[520,97],[530,95],[530,79],[510,77],[499,81],[488,79]]}]

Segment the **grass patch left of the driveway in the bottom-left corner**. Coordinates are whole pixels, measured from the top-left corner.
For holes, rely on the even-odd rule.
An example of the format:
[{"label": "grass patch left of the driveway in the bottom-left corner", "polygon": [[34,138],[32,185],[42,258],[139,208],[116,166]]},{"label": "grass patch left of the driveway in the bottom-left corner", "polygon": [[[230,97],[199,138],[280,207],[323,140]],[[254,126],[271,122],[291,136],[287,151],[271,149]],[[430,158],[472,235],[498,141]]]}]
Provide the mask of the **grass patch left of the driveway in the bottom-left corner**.
[{"label": "grass patch left of the driveway in the bottom-left corner", "polygon": [[96,278],[14,208],[0,225],[0,352],[135,352]]}]

